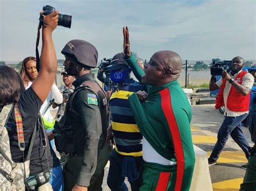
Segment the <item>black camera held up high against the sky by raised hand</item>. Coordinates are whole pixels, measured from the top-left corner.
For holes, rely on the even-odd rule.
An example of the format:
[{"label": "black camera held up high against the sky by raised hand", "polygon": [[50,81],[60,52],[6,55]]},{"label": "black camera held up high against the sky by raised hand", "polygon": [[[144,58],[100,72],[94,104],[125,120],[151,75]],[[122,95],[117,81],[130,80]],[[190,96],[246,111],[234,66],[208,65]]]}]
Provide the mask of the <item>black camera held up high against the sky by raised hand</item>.
[{"label": "black camera held up high against the sky by raised hand", "polygon": [[[44,11],[43,15],[49,15],[52,12],[55,11],[55,8],[53,8],[50,5],[46,5],[46,6],[43,6],[43,11]],[[58,15],[59,15],[58,25],[70,28],[71,27],[72,16],[62,15],[62,14],[58,14]],[[44,20],[43,16],[40,16],[39,20],[41,22],[43,22],[43,20]]]}]

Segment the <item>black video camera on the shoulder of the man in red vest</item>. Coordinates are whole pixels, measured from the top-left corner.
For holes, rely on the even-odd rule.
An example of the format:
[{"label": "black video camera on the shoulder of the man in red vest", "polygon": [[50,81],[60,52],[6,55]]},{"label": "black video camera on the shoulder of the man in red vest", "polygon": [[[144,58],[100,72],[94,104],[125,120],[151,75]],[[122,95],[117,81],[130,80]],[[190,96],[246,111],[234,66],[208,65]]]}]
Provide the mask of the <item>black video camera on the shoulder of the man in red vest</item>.
[{"label": "black video camera on the shoulder of the man in red vest", "polygon": [[232,65],[232,60],[223,60],[216,62],[215,59],[212,59],[211,75],[217,76],[222,75],[223,69],[229,72],[229,69]]}]

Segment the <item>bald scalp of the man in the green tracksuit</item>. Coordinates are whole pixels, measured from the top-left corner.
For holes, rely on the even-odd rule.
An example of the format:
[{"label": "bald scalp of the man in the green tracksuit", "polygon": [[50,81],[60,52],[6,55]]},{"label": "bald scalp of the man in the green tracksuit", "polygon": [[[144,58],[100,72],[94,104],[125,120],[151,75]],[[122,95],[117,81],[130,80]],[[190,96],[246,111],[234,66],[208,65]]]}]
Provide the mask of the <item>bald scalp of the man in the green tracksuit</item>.
[{"label": "bald scalp of the man in the green tracksuit", "polygon": [[159,63],[163,63],[165,68],[170,68],[172,70],[171,75],[176,75],[177,78],[179,77],[182,69],[182,61],[179,54],[172,51],[158,51],[151,58],[157,60]]}]

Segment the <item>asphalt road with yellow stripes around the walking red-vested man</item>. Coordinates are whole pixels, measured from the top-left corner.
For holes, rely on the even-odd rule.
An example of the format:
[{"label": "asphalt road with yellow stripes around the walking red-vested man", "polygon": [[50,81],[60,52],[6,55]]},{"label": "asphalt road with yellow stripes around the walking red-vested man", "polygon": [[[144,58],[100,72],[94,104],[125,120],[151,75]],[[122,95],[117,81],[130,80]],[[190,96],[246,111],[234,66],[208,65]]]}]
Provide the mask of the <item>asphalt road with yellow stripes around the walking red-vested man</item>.
[{"label": "asphalt road with yellow stripes around the walking red-vested man", "polygon": [[[211,154],[217,140],[217,133],[224,120],[223,114],[215,110],[214,105],[192,105],[193,118],[191,122],[192,138],[195,145]],[[243,128],[244,135],[252,146],[248,128]],[[244,152],[230,137],[218,164],[210,166],[213,190],[239,190],[245,169],[240,166],[246,164]]]}]

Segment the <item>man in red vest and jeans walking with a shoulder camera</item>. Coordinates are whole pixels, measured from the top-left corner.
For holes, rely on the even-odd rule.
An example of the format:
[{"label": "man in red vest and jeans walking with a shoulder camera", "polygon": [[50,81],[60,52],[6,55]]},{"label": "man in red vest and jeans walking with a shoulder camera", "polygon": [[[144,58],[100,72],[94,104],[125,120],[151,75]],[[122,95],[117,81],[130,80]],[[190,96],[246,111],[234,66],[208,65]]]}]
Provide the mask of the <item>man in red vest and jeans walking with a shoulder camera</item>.
[{"label": "man in red vest and jeans walking with a shoulder camera", "polygon": [[214,76],[210,81],[209,89],[211,91],[220,88],[216,98],[215,108],[225,106],[223,124],[218,132],[218,140],[215,144],[208,165],[217,164],[220,152],[223,150],[228,137],[231,135],[235,143],[237,143],[242,151],[245,152],[248,159],[249,144],[242,133],[241,122],[247,117],[250,105],[250,92],[254,83],[254,77],[242,70],[245,60],[240,56],[232,59],[230,73],[223,70],[222,79],[215,83]]}]

